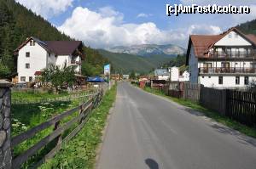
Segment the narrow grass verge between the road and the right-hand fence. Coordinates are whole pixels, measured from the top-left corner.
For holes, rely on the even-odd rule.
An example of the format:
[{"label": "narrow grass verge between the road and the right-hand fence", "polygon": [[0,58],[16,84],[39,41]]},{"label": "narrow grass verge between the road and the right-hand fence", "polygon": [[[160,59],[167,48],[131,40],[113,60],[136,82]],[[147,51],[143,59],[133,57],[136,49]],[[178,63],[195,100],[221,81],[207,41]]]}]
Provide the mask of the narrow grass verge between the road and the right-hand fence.
[{"label": "narrow grass verge between the road and the right-hand fence", "polygon": [[152,89],[150,87],[145,87],[144,91],[146,91],[148,93],[154,93],[156,95],[163,96],[167,99],[171,99],[172,101],[176,102],[177,104],[182,104],[182,105],[189,107],[193,110],[197,110],[197,111],[203,113],[204,115],[206,115],[207,117],[212,118],[214,121],[218,121],[219,123],[222,123],[227,127],[233,128],[241,133],[246,134],[247,136],[256,138],[256,128],[255,127],[247,127],[245,125],[242,125],[241,123],[234,121],[227,116],[220,115],[218,112],[209,110],[209,109],[201,106],[201,104],[199,104],[199,103],[195,103],[195,102],[192,102],[192,101],[189,101],[186,99],[172,98],[170,96],[166,96],[165,93],[163,93],[159,90]]}]

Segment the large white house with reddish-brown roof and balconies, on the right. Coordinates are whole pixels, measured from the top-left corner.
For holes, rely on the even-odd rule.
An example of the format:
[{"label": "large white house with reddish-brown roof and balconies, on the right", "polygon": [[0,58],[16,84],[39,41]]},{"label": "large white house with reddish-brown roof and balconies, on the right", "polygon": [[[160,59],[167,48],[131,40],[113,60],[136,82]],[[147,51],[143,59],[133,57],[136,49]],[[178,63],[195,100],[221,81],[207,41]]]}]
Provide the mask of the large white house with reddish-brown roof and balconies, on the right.
[{"label": "large white house with reddish-brown roof and balconies, on the right", "polygon": [[205,87],[246,87],[256,80],[256,37],[231,28],[220,35],[190,35],[190,82]]}]

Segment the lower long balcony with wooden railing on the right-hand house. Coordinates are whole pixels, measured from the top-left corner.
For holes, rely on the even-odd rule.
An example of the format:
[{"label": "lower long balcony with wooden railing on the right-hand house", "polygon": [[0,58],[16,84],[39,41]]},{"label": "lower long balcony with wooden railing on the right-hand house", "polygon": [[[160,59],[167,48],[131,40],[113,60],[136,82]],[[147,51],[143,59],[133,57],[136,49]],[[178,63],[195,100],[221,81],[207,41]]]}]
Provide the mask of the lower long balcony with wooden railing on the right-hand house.
[{"label": "lower long balcony with wooden railing on the right-hand house", "polygon": [[256,68],[239,68],[239,67],[201,67],[199,68],[200,74],[251,74],[256,73]]}]

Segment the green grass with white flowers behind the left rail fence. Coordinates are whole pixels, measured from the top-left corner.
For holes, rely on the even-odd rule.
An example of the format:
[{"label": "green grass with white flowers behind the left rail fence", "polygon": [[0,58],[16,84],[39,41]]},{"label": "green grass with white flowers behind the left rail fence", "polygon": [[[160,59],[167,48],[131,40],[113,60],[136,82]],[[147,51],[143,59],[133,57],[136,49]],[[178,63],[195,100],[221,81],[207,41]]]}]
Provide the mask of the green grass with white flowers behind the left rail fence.
[{"label": "green grass with white flowers behind the left rail fence", "polygon": [[[26,92],[13,92],[12,99],[48,99],[61,97],[64,94],[53,94],[53,93],[26,93]],[[65,94],[67,95],[67,94]],[[83,99],[85,101],[86,99]],[[82,100],[73,99],[71,101],[57,101],[51,103],[40,103],[40,104],[12,104],[11,106],[11,115],[12,115],[12,137],[25,132],[32,127],[38,126],[44,121],[49,120],[51,117],[61,114],[66,110],[71,110],[72,108],[78,106]],[[69,115],[61,121],[64,123],[74,116],[78,115],[79,111],[75,112],[73,115]],[[75,125],[71,127],[70,130],[67,130],[64,134],[67,135],[68,132],[71,132],[72,128],[76,127]],[[23,143],[15,146],[14,156],[20,155],[26,149],[32,147],[32,145],[38,143],[39,140],[47,136],[50,132],[53,131],[53,127],[49,127],[42,132],[38,132],[34,137],[27,139]],[[55,146],[55,141],[47,145],[44,149],[38,151],[36,155],[33,155],[29,161],[21,166],[21,168],[28,168],[32,163],[40,160],[49,149]]]}]

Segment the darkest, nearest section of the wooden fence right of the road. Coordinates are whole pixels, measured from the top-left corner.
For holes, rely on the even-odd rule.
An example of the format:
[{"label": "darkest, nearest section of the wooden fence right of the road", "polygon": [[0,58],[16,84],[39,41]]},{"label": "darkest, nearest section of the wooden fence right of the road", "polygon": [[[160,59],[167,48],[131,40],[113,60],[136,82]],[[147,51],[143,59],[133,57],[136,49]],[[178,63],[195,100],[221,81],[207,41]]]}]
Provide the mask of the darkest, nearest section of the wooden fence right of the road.
[{"label": "darkest, nearest section of the wooden fence right of the road", "polygon": [[201,87],[200,103],[247,126],[256,126],[256,93]]}]

